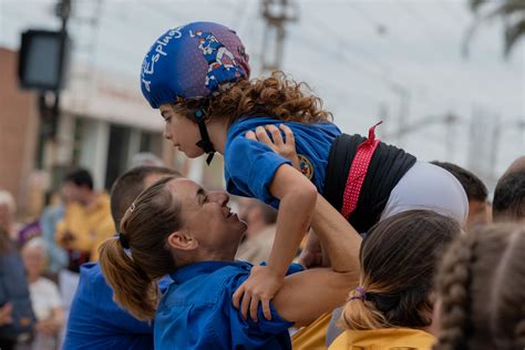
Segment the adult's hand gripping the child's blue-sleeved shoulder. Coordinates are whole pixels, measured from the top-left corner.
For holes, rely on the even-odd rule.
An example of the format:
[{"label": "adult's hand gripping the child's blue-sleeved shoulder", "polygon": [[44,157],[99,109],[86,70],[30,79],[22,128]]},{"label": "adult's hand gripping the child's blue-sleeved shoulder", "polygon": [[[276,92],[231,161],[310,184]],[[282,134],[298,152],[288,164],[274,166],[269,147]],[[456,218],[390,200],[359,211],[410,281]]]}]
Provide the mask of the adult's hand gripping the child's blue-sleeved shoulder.
[{"label": "adult's hand gripping the child's blue-sleeved shoulder", "polygon": [[[285,133],[286,140],[282,140],[282,135],[279,128]],[[280,155],[284,158],[291,161],[291,165],[300,171],[301,166],[299,163],[299,157],[297,156],[296,151],[296,140],[294,138],[294,133],[291,130],[285,125],[280,124],[279,128],[275,125],[257,126],[255,133],[249,131],[245,134],[246,138],[254,140],[264,143],[271,148],[275,153]],[[267,131],[271,134],[271,138],[268,136]]]}]

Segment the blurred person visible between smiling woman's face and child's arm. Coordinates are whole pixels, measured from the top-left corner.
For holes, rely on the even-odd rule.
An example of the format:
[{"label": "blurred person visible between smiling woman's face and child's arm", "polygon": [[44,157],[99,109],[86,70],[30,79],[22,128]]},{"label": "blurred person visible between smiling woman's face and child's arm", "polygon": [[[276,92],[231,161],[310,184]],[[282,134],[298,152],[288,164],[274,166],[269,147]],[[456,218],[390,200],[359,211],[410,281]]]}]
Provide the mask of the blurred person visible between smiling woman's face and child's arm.
[{"label": "blurred person visible between smiling woman's face and child's arm", "polygon": [[240,218],[248,224],[236,259],[260,265],[268,260],[276,235],[277,212],[253,198],[240,198]]}]

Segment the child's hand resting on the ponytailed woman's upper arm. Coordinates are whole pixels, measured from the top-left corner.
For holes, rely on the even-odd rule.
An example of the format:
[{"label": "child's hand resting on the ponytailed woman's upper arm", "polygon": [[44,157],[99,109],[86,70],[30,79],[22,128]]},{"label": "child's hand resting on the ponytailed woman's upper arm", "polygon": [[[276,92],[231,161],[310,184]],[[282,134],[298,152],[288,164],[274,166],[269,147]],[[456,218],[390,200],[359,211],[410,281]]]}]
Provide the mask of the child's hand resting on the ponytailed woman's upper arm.
[{"label": "child's hand resting on the ponytailed woman's upper arm", "polygon": [[240,299],[240,313],[246,320],[249,316],[257,322],[257,308],[259,301],[262,305],[262,313],[267,320],[271,320],[270,300],[275,297],[284,282],[284,277],[278,276],[268,266],[254,266],[251,274],[234,294],[234,306],[238,309]]}]

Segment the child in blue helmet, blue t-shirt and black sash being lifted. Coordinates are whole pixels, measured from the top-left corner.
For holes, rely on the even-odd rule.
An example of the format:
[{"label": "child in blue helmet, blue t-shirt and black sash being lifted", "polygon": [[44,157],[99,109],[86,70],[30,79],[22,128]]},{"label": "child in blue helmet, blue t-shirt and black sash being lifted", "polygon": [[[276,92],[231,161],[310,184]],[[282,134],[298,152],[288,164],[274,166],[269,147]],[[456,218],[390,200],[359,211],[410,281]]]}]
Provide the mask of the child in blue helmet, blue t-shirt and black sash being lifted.
[{"label": "child in blue helmet, blue t-shirt and black sash being lifted", "polygon": [[[223,154],[229,193],[279,208],[268,266],[254,269],[234,296],[244,313],[250,309],[255,318],[261,301],[265,317],[271,316],[269,300],[310,225],[317,193],[362,233],[385,213],[414,207],[466,217],[466,196],[452,175],[380,143],[373,128],[368,138],[341,134],[306,84],[281,73],[249,81],[249,72],[240,39],[209,22],[168,30],[141,72],[142,92],[159,109],[164,135],[175,147],[192,158],[207,153],[208,164],[215,152]],[[250,132],[294,135],[301,172],[268,145],[245,137]],[[415,175],[408,178],[421,179],[418,186],[402,182],[411,172]]]}]

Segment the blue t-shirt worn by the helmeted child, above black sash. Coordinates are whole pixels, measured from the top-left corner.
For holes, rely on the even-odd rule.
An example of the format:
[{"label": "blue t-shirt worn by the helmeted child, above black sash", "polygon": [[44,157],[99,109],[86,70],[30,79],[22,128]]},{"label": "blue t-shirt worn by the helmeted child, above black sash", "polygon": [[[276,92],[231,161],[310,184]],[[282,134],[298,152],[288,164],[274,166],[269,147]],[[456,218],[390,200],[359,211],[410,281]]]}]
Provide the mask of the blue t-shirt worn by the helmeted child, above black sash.
[{"label": "blue t-shirt worn by the helmeted child, above black sash", "polygon": [[[267,145],[245,137],[246,132],[257,126],[286,124],[294,132],[296,150],[305,164],[310,167],[311,182],[318,193],[325,187],[325,176],[330,147],[341,134],[334,124],[301,124],[265,116],[245,117],[230,125],[224,152],[226,189],[233,195],[255,197],[275,208],[279,200],[269,193],[276,171],[290,161],[281,157]],[[310,176],[309,176],[310,177]]]}]

